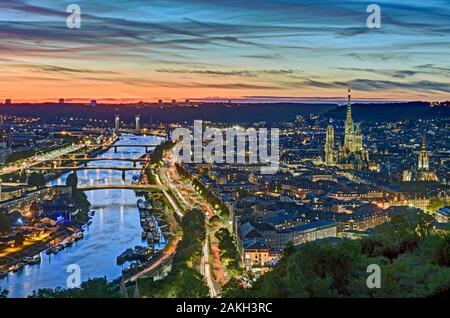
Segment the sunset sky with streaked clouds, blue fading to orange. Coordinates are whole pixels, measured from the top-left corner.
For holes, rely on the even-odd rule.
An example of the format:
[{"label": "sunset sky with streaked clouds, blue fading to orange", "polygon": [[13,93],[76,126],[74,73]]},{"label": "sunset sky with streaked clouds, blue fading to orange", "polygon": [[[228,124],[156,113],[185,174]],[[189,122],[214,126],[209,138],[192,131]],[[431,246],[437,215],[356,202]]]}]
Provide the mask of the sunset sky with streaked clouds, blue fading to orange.
[{"label": "sunset sky with streaked clouds, blue fading to orange", "polygon": [[446,100],[449,56],[449,0],[0,0],[0,101]]}]

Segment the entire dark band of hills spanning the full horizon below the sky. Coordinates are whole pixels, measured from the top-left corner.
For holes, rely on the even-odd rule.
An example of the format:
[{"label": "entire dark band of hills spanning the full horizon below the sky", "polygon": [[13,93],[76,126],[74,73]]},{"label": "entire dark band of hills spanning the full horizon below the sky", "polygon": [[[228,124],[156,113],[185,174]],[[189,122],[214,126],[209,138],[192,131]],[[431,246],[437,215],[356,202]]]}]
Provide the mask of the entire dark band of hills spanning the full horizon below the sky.
[{"label": "entire dark band of hills spanning the full horizon below the sky", "polygon": [[[428,103],[386,103],[354,104],[353,116],[356,121],[392,121],[401,119],[430,118],[449,116],[449,107],[429,107]],[[247,103],[219,104],[202,103],[197,106],[138,106],[99,104],[91,107],[86,104],[0,104],[0,113],[6,115],[41,117],[46,122],[59,122],[61,118],[84,118],[112,121],[119,113],[125,123],[133,123],[136,114],[141,115],[142,123],[192,123],[196,119],[223,123],[268,123],[289,121],[296,115],[324,114],[335,119],[345,118],[345,106],[337,104],[307,103]]]}]

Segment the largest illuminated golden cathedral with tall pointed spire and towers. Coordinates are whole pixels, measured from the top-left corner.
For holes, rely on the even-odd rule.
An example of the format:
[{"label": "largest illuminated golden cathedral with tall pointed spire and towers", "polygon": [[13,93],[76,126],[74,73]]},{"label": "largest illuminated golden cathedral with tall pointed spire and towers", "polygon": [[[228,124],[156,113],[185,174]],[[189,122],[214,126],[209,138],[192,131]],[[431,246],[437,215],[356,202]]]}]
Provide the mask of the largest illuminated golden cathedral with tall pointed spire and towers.
[{"label": "largest illuminated golden cathedral with tall pointed spire and towers", "polygon": [[362,170],[373,166],[369,162],[368,151],[363,147],[359,124],[353,122],[350,88],[348,89],[344,143],[336,146],[334,127],[328,125],[325,139],[325,164],[344,170]]}]

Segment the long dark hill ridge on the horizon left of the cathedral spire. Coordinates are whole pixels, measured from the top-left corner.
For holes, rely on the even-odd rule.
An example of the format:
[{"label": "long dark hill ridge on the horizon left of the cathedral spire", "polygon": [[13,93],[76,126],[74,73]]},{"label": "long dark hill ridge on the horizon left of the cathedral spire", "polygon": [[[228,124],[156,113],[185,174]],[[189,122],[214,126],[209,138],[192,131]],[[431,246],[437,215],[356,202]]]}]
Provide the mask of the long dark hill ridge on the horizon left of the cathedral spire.
[{"label": "long dark hill ridge on the horizon left of the cathedral spire", "polygon": [[141,115],[143,123],[149,123],[150,121],[153,123],[192,123],[195,119],[224,123],[252,123],[258,121],[293,120],[296,115],[321,114],[336,106],[335,104],[300,103],[239,104],[229,106],[217,103],[204,103],[198,106],[141,107],[137,105],[97,105],[96,107],[91,107],[84,104],[46,103],[0,105],[0,113],[41,117],[47,122],[57,121],[61,117],[95,118],[111,121],[114,114],[119,113],[121,119],[126,123],[133,122],[136,114]]}]

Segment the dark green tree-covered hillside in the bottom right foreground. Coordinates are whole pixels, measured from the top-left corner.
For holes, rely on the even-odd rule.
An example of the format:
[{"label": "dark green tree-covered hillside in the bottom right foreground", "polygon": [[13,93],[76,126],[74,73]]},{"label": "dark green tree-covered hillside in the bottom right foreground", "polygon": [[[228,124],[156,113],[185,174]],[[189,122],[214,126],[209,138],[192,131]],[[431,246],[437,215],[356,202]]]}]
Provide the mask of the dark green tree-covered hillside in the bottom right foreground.
[{"label": "dark green tree-covered hillside in the bottom right foreground", "polygon": [[[432,217],[397,215],[373,236],[332,245],[316,241],[285,251],[252,288],[236,280],[224,297],[448,297],[450,236],[436,233]],[[381,268],[381,288],[366,285],[367,268]]]}]

